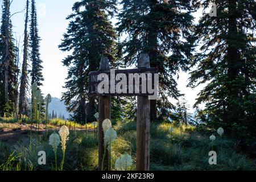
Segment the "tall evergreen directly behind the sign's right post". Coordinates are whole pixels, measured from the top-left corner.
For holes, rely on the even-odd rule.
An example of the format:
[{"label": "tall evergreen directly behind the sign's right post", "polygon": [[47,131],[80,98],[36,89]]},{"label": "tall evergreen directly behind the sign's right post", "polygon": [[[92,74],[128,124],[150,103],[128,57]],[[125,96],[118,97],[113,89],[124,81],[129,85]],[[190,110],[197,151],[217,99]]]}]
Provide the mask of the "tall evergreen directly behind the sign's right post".
[{"label": "tall evergreen directly behind the sign's right post", "polygon": [[189,1],[122,0],[121,4],[123,10],[118,15],[117,25],[119,33],[128,35],[122,43],[125,63],[137,63],[140,53],[148,53],[150,66],[160,73],[160,100],[150,103],[151,121],[155,121],[160,119],[157,109],[173,107],[167,97],[181,96],[175,75],[179,69],[187,69],[187,58],[192,52],[193,17]]}]

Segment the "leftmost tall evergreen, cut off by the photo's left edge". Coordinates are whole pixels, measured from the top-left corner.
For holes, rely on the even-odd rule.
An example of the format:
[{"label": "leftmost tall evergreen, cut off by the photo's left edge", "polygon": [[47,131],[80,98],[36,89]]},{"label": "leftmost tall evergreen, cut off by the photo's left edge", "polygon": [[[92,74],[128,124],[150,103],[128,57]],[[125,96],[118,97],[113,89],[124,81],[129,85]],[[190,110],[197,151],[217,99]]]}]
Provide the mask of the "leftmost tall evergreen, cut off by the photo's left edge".
[{"label": "leftmost tall evergreen, cut off by the photo's left edge", "polygon": [[15,95],[15,45],[10,19],[10,1],[2,4],[0,36],[0,115],[13,116]]}]

